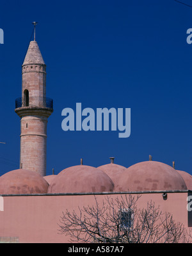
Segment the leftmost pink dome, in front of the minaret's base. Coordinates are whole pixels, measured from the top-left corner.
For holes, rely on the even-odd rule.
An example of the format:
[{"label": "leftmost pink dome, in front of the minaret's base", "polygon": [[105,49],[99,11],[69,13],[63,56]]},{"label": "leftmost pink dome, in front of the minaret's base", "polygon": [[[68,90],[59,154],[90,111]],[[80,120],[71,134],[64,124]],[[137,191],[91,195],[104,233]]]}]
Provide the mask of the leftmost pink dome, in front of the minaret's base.
[{"label": "leftmost pink dome, in front of the minaret's base", "polygon": [[32,170],[12,170],[0,177],[0,194],[42,194],[48,187],[47,181]]}]

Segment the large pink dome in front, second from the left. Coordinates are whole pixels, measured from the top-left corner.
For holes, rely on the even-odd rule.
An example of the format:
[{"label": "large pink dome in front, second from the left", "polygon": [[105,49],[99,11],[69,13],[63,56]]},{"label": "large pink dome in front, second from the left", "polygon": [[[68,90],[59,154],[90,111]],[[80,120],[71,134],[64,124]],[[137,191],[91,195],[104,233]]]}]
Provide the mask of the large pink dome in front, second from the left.
[{"label": "large pink dome in front, second from the left", "polygon": [[52,180],[48,193],[111,192],[113,187],[113,181],[102,170],[76,165],[62,170]]}]

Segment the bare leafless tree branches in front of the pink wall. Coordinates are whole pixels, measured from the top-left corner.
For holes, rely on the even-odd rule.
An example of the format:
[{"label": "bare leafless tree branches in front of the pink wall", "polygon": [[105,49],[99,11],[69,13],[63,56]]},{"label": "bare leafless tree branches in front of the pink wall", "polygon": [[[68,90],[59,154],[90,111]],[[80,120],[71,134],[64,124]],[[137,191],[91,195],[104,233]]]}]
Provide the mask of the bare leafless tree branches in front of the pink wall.
[{"label": "bare leafless tree branches in front of the pink wall", "polygon": [[70,242],[156,243],[189,242],[182,223],[163,213],[154,203],[138,209],[140,196],[105,197],[99,205],[79,208],[79,213],[68,210],[60,219],[59,231],[70,237]]}]

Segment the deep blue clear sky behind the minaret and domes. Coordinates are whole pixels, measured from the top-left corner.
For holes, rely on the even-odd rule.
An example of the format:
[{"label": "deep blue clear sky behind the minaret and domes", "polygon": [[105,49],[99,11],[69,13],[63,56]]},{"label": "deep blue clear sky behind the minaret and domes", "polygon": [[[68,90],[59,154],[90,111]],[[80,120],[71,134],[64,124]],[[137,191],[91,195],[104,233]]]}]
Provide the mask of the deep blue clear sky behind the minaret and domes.
[{"label": "deep blue clear sky behind the minaret and domes", "polygon": [[[184,3],[192,5],[192,1]],[[173,0],[3,1],[0,175],[19,168],[21,65],[36,26],[47,65],[47,175],[66,167],[162,161],[192,174],[192,8]],[[61,129],[65,107],[131,107],[131,136]]]}]

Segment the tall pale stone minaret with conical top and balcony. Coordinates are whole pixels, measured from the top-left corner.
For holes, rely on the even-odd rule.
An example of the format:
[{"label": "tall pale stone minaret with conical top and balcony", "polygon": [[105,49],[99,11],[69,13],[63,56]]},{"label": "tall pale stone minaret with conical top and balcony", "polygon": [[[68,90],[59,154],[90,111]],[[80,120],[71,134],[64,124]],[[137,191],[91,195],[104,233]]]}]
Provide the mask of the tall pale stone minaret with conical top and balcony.
[{"label": "tall pale stone minaret with conical top and balcony", "polygon": [[46,65],[34,37],[22,64],[22,97],[15,100],[15,113],[20,116],[20,169],[46,175],[47,119],[52,111],[52,99],[46,98]]}]

